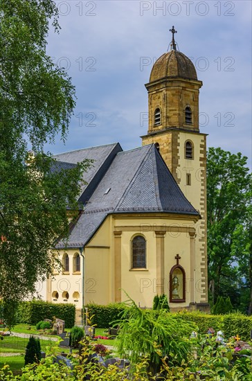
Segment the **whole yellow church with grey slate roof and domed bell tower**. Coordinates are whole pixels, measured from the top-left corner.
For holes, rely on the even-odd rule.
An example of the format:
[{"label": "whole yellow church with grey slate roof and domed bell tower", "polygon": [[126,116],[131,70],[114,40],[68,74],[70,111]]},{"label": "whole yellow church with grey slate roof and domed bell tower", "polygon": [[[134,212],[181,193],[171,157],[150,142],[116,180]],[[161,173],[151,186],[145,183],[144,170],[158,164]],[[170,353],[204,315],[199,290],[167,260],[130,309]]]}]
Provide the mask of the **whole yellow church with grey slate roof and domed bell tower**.
[{"label": "whole yellow church with grey slate roof and domed bell tower", "polygon": [[[83,209],[57,243],[63,269],[46,282],[54,303],[107,304],[128,299],[152,307],[166,294],[170,310],[208,310],[206,134],[199,132],[194,65],[177,50],[154,63],[143,145],[119,143],[55,155],[62,166],[84,159]],[[125,294],[125,292],[127,294]]]}]

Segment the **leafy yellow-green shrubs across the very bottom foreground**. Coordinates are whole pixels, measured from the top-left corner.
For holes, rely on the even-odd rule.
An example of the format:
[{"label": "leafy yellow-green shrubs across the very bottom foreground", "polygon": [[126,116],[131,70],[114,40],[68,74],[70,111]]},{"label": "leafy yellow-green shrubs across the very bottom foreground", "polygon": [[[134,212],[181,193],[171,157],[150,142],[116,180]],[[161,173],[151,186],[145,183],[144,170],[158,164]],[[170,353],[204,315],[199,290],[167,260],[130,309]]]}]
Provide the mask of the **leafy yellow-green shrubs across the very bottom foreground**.
[{"label": "leafy yellow-green shrubs across the very bottom foreground", "polygon": [[[163,313],[163,312],[162,312]],[[159,378],[148,371],[150,358],[142,356],[140,361],[132,364],[130,369],[118,369],[116,365],[107,368],[89,358],[96,351],[89,342],[82,343],[82,355],[79,358],[71,357],[73,370],[64,362],[54,362],[57,348],[51,348],[46,358],[39,364],[29,364],[22,369],[22,375],[15,376],[8,371],[8,366],[0,369],[0,380],[48,380],[48,381],[121,381],[121,380],[208,380],[208,381],[251,381],[252,364],[247,357],[235,357],[233,350],[216,346],[215,339],[199,337],[193,341],[193,350],[188,353],[188,360],[172,366],[168,359],[160,357],[162,363]],[[100,351],[98,351],[100,352]],[[197,354],[197,358],[195,355]],[[131,372],[131,373],[129,373]]]}]

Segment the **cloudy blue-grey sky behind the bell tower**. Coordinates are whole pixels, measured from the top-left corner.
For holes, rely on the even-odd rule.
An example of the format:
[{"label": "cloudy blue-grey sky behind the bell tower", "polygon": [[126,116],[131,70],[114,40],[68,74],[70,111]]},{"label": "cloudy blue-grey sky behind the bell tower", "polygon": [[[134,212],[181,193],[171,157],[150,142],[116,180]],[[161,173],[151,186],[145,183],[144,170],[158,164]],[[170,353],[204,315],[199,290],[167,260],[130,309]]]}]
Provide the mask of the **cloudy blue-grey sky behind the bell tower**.
[{"label": "cloudy blue-grey sky behind the bell tower", "polygon": [[147,133],[152,65],[170,50],[172,34],[203,82],[199,128],[208,147],[242,152],[251,166],[251,1],[55,1],[60,35],[48,36],[48,54],[64,67],[77,102],[57,154],[119,142],[141,145]]}]

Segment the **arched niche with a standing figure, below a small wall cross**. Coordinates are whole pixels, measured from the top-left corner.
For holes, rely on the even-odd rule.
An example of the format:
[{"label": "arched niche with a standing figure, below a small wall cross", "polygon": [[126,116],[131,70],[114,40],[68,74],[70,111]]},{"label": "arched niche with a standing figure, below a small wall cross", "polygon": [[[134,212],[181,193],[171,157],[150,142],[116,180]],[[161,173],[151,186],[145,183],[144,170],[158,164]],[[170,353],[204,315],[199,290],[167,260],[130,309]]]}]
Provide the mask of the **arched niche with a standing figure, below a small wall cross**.
[{"label": "arched niche with a standing figure, below a small wall cross", "polygon": [[170,302],[186,301],[186,273],[181,265],[174,265],[170,270]]}]

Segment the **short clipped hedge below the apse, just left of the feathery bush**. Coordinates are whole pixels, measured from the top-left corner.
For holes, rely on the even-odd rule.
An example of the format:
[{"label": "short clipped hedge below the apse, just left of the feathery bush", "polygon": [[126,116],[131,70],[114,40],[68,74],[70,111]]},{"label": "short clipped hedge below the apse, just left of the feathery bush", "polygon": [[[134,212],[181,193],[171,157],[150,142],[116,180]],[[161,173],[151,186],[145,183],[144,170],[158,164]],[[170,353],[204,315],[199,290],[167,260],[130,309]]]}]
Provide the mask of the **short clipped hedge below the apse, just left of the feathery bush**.
[{"label": "short clipped hedge below the apse, just left of the feathery bush", "polygon": [[92,317],[92,325],[102,328],[109,328],[122,317],[122,313],[127,309],[123,303],[110,303],[98,305],[90,303],[85,305],[88,308],[89,316]]}]

